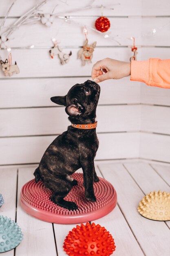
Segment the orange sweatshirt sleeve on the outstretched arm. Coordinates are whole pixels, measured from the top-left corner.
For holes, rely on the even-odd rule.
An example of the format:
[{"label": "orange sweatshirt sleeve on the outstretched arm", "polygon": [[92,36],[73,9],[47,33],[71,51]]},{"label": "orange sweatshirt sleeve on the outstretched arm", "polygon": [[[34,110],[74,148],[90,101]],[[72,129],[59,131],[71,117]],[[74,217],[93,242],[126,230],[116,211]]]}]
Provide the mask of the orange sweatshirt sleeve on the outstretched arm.
[{"label": "orange sweatshirt sleeve on the outstretched arm", "polygon": [[150,58],[148,61],[132,61],[130,80],[170,88],[170,59]]}]

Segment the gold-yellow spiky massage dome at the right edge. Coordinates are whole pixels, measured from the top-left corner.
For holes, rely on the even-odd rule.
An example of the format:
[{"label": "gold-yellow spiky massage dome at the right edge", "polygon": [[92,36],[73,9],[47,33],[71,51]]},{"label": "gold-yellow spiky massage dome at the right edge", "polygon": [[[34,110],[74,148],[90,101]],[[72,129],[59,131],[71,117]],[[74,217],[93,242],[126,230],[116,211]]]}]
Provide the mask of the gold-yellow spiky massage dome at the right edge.
[{"label": "gold-yellow spiky massage dome at the right edge", "polygon": [[170,220],[170,193],[150,192],[139,203],[139,213],[150,220]]}]

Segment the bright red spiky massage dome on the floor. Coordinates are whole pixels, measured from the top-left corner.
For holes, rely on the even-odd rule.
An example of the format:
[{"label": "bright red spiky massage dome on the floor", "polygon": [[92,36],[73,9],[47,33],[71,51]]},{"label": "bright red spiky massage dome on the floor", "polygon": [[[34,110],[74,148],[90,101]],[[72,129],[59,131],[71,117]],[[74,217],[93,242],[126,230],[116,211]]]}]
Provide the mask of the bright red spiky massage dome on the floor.
[{"label": "bright red spiky massage dome on the floor", "polygon": [[111,234],[99,224],[77,225],[64,240],[64,251],[69,256],[110,256],[115,251]]}]

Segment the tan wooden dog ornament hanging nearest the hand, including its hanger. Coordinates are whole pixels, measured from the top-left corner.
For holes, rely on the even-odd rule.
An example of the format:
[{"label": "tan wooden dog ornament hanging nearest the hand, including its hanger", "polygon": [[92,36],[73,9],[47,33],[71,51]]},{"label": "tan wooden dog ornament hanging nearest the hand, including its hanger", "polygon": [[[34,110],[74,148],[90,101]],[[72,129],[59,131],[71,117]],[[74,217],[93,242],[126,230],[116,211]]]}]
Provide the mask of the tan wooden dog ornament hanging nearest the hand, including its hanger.
[{"label": "tan wooden dog ornament hanging nearest the hand, including its hanger", "polygon": [[82,65],[84,66],[87,61],[92,63],[91,59],[93,58],[93,52],[97,42],[94,42],[93,44],[88,45],[87,29],[84,28],[83,31],[86,36],[86,40],[83,48],[78,51],[78,58],[82,60]]}]

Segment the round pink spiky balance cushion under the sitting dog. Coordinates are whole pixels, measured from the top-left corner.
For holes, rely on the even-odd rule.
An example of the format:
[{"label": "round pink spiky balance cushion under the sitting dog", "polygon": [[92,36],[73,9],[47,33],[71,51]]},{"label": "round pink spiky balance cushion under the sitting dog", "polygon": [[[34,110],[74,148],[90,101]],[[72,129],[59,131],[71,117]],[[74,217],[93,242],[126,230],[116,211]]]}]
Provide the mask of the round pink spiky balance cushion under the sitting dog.
[{"label": "round pink spiky balance cushion under the sitting dog", "polygon": [[99,219],[112,211],[117,204],[117,193],[110,182],[99,178],[94,183],[97,201],[89,202],[84,195],[83,174],[74,173],[72,177],[78,181],[68,195],[67,201],[75,202],[78,209],[69,211],[50,200],[52,191],[46,189],[43,182],[35,180],[27,182],[20,193],[22,209],[35,218],[58,224],[78,224]]}]

